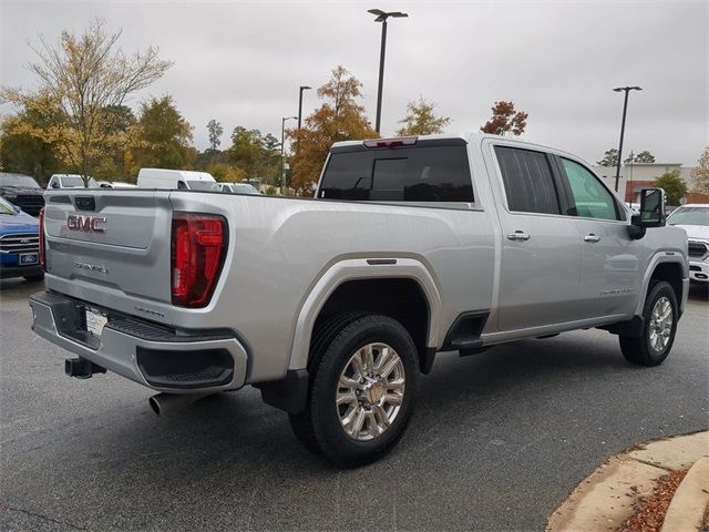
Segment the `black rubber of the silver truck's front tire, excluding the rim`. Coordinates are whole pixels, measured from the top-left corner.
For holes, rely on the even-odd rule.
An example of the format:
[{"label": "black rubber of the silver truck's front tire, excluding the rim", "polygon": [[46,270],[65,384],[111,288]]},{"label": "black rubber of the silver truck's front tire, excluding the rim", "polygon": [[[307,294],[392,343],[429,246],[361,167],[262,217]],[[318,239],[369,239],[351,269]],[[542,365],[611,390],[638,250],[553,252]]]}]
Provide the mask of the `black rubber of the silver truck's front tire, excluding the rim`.
[{"label": "black rubber of the silver truck's front tire, excluding the rim", "polygon": [[[671,307],[672,324],[668,337],[668,341],[661,349],[655,349],[650,342],[650,335],[653,332],[653,309],[657,301],[666,297],[669,300]],[[620,350],[623,356],[629,362],[638,366],[659,366],[665,361],[669,355],[672,344],[675,342],[675,335],[677,332],[677,321],[679,320],[679,307],[677,305],[677,296],[675,290],[664,280],[653,285],[648,291],[645,306],[643,307],[643,334],[638,337],[620,336]]]}]

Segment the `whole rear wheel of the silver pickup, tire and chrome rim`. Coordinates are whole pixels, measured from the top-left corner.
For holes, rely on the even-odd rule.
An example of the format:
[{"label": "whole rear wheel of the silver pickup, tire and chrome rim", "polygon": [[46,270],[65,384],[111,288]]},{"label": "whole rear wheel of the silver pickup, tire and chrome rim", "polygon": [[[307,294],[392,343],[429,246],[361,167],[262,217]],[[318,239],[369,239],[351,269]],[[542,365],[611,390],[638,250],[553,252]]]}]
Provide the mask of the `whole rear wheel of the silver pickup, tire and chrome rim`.
[{"label": "whole rear wheel of the silver pickup, tire and chrome rim", "polygon": [[401,324],[364,315],[342,324],[310,369],[296,436],[342,467],[370,463],[399,441],[413,412],[419,365]]}]

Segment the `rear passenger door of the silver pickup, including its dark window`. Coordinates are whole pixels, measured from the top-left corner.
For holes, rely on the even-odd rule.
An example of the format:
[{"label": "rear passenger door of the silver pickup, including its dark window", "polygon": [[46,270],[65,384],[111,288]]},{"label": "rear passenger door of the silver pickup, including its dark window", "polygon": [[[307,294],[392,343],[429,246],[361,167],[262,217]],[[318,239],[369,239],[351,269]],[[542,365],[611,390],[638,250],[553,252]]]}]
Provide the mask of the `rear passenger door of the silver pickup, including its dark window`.
[{"label": "rear passenger door of the silver pickup, including its dark window", "polygon": [[582,245],[562,215],[553,156],[503,141],[489,145],[502,227],[499,330],[578,319]]}]

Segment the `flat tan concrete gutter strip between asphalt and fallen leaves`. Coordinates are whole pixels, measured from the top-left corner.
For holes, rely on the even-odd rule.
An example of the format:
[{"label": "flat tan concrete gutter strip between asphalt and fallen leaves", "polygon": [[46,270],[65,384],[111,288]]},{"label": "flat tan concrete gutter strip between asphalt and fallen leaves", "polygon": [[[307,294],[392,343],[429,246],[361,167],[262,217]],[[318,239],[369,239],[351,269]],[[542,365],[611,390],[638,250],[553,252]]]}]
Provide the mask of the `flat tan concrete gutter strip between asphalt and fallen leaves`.
[{"label": "flat tan concrete gutter strip between asphalt and fallen leaves", "polygon": [[657,479],[688,469],[708,453],[709,431],[703,431],[647,442],[612,457],[552,513],[546,530],[615,531],[633,515],[640,499],[653,493]]}]

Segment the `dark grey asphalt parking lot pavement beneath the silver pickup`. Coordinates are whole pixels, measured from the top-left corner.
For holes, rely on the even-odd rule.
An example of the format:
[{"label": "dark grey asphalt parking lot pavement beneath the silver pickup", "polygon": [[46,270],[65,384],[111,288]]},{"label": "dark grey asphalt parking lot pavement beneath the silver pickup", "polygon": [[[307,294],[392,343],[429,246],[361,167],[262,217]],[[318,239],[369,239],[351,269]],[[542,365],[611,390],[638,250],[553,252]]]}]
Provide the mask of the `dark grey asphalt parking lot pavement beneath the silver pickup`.
[{"label": "dark grey asphalt parking lot pavement beneath the silver pickup", "polygon": [[157,418],[140,385],[65,377],[69,355],[29,328],[41,289],[0,284],[3,531],[541,531],[609,454],[709,427],[701,289],[657,368],[593,329],[440,355],[397,449],[347,471],[250,387]]}]

